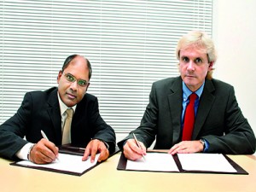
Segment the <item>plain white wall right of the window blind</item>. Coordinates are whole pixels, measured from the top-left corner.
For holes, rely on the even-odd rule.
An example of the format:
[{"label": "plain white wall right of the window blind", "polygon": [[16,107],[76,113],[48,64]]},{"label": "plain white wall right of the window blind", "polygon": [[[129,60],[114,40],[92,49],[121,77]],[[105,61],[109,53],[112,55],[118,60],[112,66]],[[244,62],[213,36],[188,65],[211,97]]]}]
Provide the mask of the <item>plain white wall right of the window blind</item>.
[{"label": "plain white wall right of the window blind", "polygon": [[256,1],[213,0],[212,38],[218,49],[213,77],[235,87],[236,99],[256,133]]}]

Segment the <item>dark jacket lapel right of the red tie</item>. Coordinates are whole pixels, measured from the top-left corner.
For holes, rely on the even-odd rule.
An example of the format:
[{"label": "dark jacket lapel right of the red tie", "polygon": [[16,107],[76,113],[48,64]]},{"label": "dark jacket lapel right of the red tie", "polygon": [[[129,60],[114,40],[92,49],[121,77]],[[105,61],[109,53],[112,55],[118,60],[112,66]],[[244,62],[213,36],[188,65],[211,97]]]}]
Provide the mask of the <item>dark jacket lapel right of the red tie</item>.
[{"label": "dark jacket lapel right of the red tie", "polygon": [[205,120],[207,119],[207,115],[212,108],[212,104],[214,102],[215,96],[212,95],[212,91],[214,91],[214,85],[212,81],[206,80],[205,88],[202,92],[199,107],[197,110],[196,118],[195,118],[195,127],[192,135],[192,140],[195,140],[198,134],[201,131],[202,126],[204,125]]}]

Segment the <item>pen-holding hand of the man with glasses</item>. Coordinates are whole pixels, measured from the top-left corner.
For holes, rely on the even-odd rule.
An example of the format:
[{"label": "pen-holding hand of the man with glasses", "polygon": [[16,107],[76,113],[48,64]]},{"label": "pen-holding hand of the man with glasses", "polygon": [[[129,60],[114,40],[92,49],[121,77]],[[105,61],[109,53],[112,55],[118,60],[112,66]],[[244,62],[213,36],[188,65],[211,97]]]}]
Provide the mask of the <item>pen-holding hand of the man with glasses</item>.
[{"label": "pen-holding hand of the man with glasses", "polygon": [[29,155],[29,160],[36,164],[47,164],[56,160],[59,153],[59,148],[54,143],[42,138],[36,143]]}]

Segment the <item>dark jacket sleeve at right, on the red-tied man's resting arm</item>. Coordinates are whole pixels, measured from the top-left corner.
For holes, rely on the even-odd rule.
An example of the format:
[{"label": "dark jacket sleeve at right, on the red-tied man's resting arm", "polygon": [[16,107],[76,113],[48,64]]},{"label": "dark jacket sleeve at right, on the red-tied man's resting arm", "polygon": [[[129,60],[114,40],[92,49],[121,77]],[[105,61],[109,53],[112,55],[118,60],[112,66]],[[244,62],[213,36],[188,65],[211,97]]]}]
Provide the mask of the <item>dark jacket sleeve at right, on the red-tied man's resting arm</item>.
[{"label": "dark jacket sleeve at right, on the red-tied man's resting arm", "polygon": [[208,135],[204,138],[210,144],[208,153],[253,154],[255,152],[255,136],[247,119],[241,113],[236,102],[235,90],[231,87],[229,99],[224,113],[224,136]]}]

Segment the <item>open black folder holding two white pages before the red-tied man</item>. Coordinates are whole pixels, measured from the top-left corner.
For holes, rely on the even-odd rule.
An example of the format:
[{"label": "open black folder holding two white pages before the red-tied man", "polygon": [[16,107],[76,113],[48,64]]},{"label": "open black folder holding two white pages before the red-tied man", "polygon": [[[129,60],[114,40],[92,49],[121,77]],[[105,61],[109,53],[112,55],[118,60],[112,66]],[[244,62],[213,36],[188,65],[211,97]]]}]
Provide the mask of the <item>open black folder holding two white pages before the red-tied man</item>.
[{"label": "open black folder holding two white pages before the red-tied man", "polygon": [[[159,154],[163,154],[163,152],[147,152],[147,154],[149,153],[159,153]],[[164,153],[166,154],[166,153]],[[172,155],[172,154],[169,154]],[[243,168],[241,168],[241,166],[239,166],[238,164],[236,164],[235,161],[231,160],[227,155],[224,155],[224,158],[228,161],[228,164],[230,164],[230,166],[232,166],[236,172],[225,172],[225,171],[204,171],[204,170],[184,170],[183,169],[183,165],[181,164],[181,161],[178,158],[178,155],[172,155],[173,160],[175,161],[175,164],[177,166],[177,171],[163,171],[163,170],[157,170],[157,168],[155,169],[154,167],[154,171],[150,170],[150,169],[145,169],[145,170],[141,170],[141,169],[137,169],[137,168],[127,168],[127,159],[125,158],[125,155],[122,153],[120,155],[120,159],[119,159],[119,164],[117,166],[118,170],[121,171],[140,171],[140,172],[180,172],[180,173],[184,173],[184,172],[191,172],[191,173],[217,173],[217,174],[240,174],[240,175],[248,175],[248,172],[246,172]],[[142,160],[140,160],[142,163]],[[146,161],[147,161],[147,155],[146,155]],[[145,161],[145,163],[146,163]],[[141,164],[142,165],[142,164]],[[162,165],[161,165],[162,166]]]}]

